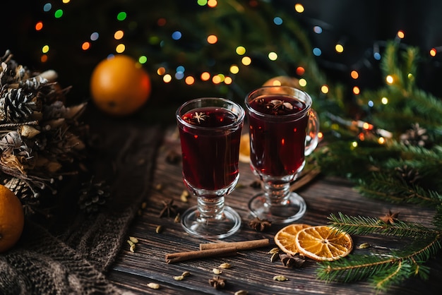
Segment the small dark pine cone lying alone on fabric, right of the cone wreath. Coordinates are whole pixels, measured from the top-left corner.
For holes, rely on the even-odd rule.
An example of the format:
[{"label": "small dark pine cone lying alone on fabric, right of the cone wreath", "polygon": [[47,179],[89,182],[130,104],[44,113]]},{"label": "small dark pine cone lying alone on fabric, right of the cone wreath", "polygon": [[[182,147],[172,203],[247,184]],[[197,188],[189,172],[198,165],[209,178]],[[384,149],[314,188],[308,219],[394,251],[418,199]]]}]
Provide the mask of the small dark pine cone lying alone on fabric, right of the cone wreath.
[{"label": "small dark pine cone lying alone on fabric, right of the cone wreath", "polygon": [[83,183],[78,198],[80,210],[88,214],[100,211],[109,195],[109,186],[106,186],[104,181],[93,183],[91,180]]}]

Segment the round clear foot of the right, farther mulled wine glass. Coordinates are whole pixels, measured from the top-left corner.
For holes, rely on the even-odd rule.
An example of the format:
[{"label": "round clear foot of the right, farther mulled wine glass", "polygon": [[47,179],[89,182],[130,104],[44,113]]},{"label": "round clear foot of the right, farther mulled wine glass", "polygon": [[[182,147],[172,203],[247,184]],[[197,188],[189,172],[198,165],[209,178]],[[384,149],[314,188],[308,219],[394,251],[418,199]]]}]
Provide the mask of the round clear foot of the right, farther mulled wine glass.
[{"label": "round clear foot of the right, farther mulled wine glass", "polygon": [[297,193],[290,193],[285,204],[271,205],[266,202],[265,195],[255,195],[249,201],[249,210],[253,217],[268,219],[274,224],[294,222],[304,216],[307,209],[306,202]]}]

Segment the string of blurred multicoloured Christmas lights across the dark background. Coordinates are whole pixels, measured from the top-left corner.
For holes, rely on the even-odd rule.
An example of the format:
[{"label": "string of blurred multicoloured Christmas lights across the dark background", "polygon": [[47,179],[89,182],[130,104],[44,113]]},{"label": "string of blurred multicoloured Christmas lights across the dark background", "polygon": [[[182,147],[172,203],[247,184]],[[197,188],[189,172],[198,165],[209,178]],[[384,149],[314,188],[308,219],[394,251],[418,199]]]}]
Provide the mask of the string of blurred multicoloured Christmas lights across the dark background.
[{"label": "string of blurred multicoloured Christmas lights across the dark background", "polygon": [[[66,14],[69,13],[69,7],[68,5],[71,4],[70,0],[63,0],[62,6],[59,6],[59,4],[54,4],[52,1],[48,1],[47,3],[43,4],[42,11],[46,14],[52,14],[52,16],[56,19],[62,19]],[[218,3],[216,0],[196,0],[196,4],[201,7],[205,7],[208,9],[217,9]],[[257,7],[259,6],[258,1],[249,1],[249,6],[251,7]],[[294,17],[296,17],[296,13],[306,13],[305,8],[300,3],[294,3]],[[121,27],[124,27],[128,25],[128,23],[131,23],[131,16],[126,13],[126,11],[121,10],[118,11],[114,15],[114,20],[117,24],[121,25]],[[280,16],[274,16],[271,20],[273,22],[273,25],[276,26],[282,26],[285,23],[285,20],[281,18]],[[313,21],[316,21],[316,23],[313,23]],[[168,20],[165,18],[158,18],[157,19],[157,25],[162,27],[167,24]],[[318,22],[318,20],[311,20],[312,22],[312,28],[313,32],[317,35],[323,34],[325,30],[332,30],[333,27],[331,25],[328,25],[327,23],[321,23]],[[269,24],[270,25],[270,24]],[[42,20],[37,21],[35,23],[35,30],[40,32],[43,31],[45,28],[45,24]],[[171,40],[178,41],[181,38],[183,38],[183,32],[180,30],[175,30],[170,35]],[[85,40],[81,44],[79,44],[80,48],[87,52],[94,46],[94,42],[97,42],[100,38],[113,38],[115,41],[117,41],[117,45],[114,47],[114,52],[109,53],[109,56],[112,56],[113,54],[122,54],[126,52],[126,43],[125,43],[125,30],[120,28],[118,30],[114,31],[113,36],[103,36],[100,34],[99,30],[94,30],[90,33],[89,36],[85,36]],[[397,35],[395,36],[395,40],[397,42],[400,42],[405,38],[405,32],[403,30],[398,30]],[[208,47],[211,45],[217,44],[219,42],[219,37],[217,35],[209,34],[206,37],[206,44]],[[157,40],[155,36],[153,36],[150,39],[151,44],[161,44],[164,42],[164,40]],[[380,49],[385,44],[384,41],[378,41],[373,44],[373,47],[370,49],[367,49],[369,52],[371,52],[371,57],[375,61],[381,60],[381,52]],[[345,42],[342,42],[342,40],[339,40],[336,44],[334,44],[334,49],[336,54],[345,54]],[[49,42],[47,44],[43,44],[41,47],[41,57],[40,61],[42,63],[47,62],[49,59],[49,51],[51,49],[51,46]],[[442,47],[432,47],[429,49],[428,56],[434,57],[438,52],[442,50]],[[175,68],[168,68],[167,66],[159,66],[156,70],[156,73],[158,76],[162,77],[162,80],[164,83],[170,83],[173,79],[175,80],[184,80],[184,83],[186,85],[193,85],[196,83],[197,80],[202,82],[211,82],[215,85],[220,83],[225,83],[226,85],[230,85],[234,83],[234,76],[239,74],[241,71],[241,67],[244,66],[250,66],[253,64],[253,59],[251,56],[247,54],[246,47],[242,46],[241,44],[238,44],[236,49],[236,54],[239,59],[238,64],[232,64],[229,66],[229,72],[228,73],[213,73],[210,68],[208,68],[206,71],[203,71],[203,73],[199,74],[199,76],[195,76],[194,73],[192,73],[191,68],[187,68],[184,65],[176,66]],[[321,56],[323,52],[323,49],[319,47],[313,47],[312,54],[314,56]],[[268,60],[269,61],[277,61],[278,59],[278,53],[274,51],[270,51],[267,53]],[[138,56],[138,62],[140,64],[147,64],[149,62],[149,56],[148,55],[140,55]],[[352,93],[354,95],[359,95],[361,93],[360,86],[358,85],[357,81],[359,80],[360,73],[359,68],[361,68],[361,65],[366,64],[366,59],[357,61],[356,64],[351,65],[350,67],[350,73],[349,76],[354,80],[354,85],[352,86]],[[339,65],[335,65],[335,67],[339,67]],[[301,88],[305,88],[308,81],[306,78],[303,77],[306,69],[303,66],[298,66],[296,70],[297,76],[300,77],[299,79],[299,86]],[[386,77],[387,83],[393,83],[391,81],[391,76]],[[323,94],[327,94],[330,91],[329,85],[321,85],[320,91]],[[372,107],[373,102],[369,102],[369,106]],[[383,100],[383,104],[388,104],[388,98],[385,98]]]}]

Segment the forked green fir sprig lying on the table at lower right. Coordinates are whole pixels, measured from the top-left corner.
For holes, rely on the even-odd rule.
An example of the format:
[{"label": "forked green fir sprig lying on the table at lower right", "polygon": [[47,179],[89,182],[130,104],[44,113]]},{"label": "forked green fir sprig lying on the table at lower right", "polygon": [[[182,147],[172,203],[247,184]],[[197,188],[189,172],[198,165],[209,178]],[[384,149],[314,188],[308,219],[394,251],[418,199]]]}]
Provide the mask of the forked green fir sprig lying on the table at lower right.
[{"label": "forked green fir sprig lying on the table at lower right", "polygon": [[[440,214],[439,214],[440,217]],[[330,215],[330,226],[348,234],[381,234],[412,239],[410,246],[387,254],[350,254],[333,262],[319,264],[317,275],[326,282],[369,280],[378,291],[419,276],[428,279],[429,267],[423,265],[441,250],[442,227],[427,228],[420,224],[395,220],[392,224],[373,217]],[[440,223],[440,221],[439,221]],[[438,224],[441,225],[441,224]]]}]

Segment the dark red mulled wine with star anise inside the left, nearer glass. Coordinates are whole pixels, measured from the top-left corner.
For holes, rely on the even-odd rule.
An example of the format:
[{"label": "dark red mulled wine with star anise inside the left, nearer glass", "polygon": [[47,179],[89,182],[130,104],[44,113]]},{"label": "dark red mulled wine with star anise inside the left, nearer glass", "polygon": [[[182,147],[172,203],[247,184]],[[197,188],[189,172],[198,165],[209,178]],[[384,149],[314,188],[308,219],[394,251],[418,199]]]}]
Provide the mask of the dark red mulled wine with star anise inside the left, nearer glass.
[{"label": "dark red mulled wine with star anise inside the left, nearer glass", "polygon": [[183,175],[195,188],[215,191],[229,186],[238,175],[239,140],[241,126],[222,130],[234,124],[238,116],[227,109],[203,107],[182,116],[198,129],[180,128]]}]

